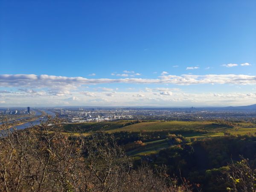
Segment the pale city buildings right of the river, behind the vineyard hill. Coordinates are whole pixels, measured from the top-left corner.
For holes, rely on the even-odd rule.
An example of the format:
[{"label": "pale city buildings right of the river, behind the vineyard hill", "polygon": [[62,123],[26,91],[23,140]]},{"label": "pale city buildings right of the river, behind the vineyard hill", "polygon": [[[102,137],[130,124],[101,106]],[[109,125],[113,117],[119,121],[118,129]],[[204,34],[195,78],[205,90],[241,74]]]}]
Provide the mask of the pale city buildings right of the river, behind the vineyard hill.
[{"label": "pale city buildings right of the river, behind the vineyard hill", "polygon": [[236,111],[218,108],[63,108],[54,109],[69,122],[113,121],[117,119],[159,120],[241,120],[253,118],[256,111]]}]

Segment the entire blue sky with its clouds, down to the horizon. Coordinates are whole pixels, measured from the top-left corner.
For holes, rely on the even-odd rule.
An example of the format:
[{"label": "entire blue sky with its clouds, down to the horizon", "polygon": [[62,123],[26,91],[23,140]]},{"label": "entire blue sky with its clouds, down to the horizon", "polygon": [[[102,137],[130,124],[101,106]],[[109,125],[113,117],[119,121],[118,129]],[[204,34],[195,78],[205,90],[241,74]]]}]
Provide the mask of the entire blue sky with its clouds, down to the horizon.
[{"label": "entire blue sky with its clouds, down to the horizon", "polygon": [[0,105],[256,103],[255,10],[255,0],[1,0]]}]

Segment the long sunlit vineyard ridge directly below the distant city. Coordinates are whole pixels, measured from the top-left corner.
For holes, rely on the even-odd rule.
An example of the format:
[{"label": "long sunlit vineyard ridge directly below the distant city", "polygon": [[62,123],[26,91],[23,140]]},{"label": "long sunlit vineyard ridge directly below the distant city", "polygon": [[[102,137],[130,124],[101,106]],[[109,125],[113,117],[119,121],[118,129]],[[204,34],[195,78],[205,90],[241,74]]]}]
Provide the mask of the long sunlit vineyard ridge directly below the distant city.
[{"label": "long sunlit vineyard ridge directly below the distant city", "polygon": [[[253,123],[237,123],[234,128],[227,127],[217,122],[192,122],[192,121],[143,121],[128,125],[134,121],[115,121],[115,122],[86,122],[86,123],[73,123],[64,125],[67,132],[72,133],[93,133],[96,131],[105,131],[107,133],[116,133],[120,131],[128,132],[151,132],[151,131],[169,131],[180,132],[185,137],[202,137],[202,134],[212,134],[214,137],[216,133],[222,136],[224,133],[233,135],[255,134],[256,125]],[[207,136],[207,135],[205,135]]]}]

